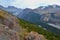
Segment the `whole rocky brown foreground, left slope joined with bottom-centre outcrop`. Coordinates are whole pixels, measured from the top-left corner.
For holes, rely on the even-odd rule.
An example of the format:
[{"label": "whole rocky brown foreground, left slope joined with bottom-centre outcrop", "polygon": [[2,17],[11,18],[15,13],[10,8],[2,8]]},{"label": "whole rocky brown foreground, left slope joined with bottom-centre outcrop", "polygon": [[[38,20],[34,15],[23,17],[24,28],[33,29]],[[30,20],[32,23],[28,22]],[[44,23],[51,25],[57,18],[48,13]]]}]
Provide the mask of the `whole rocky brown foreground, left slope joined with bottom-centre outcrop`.
[{"label": "whole rocky brown foreground, left slope joined with bottom-centre outcrop", "polygon": [[37,32],[27,33],[20,25],[17,17],[0,10],[0,40],[46,40]]}]

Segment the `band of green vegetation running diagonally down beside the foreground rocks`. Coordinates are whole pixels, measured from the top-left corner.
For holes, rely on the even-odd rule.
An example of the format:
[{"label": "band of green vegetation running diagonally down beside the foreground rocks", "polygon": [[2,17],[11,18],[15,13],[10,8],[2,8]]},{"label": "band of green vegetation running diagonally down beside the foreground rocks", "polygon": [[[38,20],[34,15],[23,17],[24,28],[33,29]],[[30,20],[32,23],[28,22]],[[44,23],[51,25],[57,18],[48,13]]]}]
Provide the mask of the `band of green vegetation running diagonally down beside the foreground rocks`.
[{"label": "band of green vegetation running diagonally down beside the foreground rocks", "polygon": [[19,24],[22,26],[22,28],[25,28],[27,30],[27,32],[36,31],[39,34],[44,35],[47,40],[60,40],[60,36],[58,36],[54,33],[51,33],[47,30],[44,30],[43,28],[39,27],[38,25],[29,23],[22,19],[19,19]]}]

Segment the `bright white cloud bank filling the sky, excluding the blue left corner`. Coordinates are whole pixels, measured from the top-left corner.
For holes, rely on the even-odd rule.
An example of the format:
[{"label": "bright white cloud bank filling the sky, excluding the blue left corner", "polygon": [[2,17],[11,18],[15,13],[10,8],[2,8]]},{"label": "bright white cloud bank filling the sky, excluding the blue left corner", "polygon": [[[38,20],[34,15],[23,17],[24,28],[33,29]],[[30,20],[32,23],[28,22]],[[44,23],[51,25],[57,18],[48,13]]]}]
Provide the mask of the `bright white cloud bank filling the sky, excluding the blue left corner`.
[{"label": "bright white cloud bank filling the sky, excluding the blue left corner", "polygon": [[12,5],[19,8],[36,8],[41,5],[60,5],[60,0],[15,0]]}]

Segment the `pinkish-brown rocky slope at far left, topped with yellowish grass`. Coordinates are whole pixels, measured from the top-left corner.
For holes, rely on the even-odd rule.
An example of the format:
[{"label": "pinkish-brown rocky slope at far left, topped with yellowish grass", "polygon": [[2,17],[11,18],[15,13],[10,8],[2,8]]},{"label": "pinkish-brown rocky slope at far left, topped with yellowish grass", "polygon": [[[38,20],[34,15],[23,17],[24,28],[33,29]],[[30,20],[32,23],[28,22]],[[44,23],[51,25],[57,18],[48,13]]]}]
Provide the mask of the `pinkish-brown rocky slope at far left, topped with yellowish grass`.
[{"label": "pinkish-brown rocky slope at far left, topped with yellowish grass", "polygon": [[0,40],[19,40],[19,31],[17,18],[0,10]]}]

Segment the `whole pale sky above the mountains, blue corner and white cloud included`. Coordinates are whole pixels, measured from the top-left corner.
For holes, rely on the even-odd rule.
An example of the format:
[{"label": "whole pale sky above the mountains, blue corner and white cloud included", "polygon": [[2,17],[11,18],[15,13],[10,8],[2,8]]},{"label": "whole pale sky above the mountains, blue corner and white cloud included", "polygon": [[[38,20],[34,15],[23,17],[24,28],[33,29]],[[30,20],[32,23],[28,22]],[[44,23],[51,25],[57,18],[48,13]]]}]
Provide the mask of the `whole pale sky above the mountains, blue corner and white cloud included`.
[{"label": "whole pale sky above the mountains, blue corner and white cloud included", "polygon": [[0,0],[0,5],[4,7],[37,8],[52,4],[60,5],[60,0]]}]

